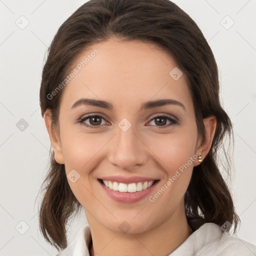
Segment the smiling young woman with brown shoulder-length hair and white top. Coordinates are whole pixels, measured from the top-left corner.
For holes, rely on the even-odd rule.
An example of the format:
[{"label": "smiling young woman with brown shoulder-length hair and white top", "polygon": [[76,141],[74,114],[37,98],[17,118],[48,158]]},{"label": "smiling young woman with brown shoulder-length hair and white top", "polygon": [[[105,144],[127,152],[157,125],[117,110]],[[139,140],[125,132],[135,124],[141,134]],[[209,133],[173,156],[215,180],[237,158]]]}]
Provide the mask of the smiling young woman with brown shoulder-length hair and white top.
[{"label": "smiling young woman with brown shoulder-length hair and white top", "polygon": [[60,26],[40,87],[53,151],[39,221],[57,255],[256,254],[229,234],[218,93],[209,45],[169,0],[90,0]]}]

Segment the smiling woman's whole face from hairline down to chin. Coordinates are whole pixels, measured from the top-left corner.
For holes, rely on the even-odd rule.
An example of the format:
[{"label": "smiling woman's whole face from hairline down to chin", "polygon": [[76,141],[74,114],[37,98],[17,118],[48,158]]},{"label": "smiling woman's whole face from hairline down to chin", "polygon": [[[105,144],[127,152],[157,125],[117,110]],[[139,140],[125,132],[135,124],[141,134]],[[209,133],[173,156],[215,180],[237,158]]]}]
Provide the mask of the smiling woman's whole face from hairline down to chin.
[{"label": "smiling woman's whole face from hairline down to chin", "polygon": [[184,211],[200,149],[185,73],[159,46],[117,39],[86,49],[73,68],[54,152],[87,219],[135,233]]}]

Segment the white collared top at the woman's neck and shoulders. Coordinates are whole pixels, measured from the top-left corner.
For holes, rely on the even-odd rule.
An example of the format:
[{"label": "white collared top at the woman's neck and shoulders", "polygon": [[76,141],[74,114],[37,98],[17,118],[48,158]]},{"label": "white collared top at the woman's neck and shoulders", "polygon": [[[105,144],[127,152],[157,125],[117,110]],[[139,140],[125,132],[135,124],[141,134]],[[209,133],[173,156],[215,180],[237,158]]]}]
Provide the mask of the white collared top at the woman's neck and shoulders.
[{"label": "white collared top at the woman's neck and shoulders", "polygon": [[[54,256],[90,256],[89,225],[84,225],[74,240]],[[255,256],[256,246],[227,234],[215,223],[204,223],[169,256]]]}]

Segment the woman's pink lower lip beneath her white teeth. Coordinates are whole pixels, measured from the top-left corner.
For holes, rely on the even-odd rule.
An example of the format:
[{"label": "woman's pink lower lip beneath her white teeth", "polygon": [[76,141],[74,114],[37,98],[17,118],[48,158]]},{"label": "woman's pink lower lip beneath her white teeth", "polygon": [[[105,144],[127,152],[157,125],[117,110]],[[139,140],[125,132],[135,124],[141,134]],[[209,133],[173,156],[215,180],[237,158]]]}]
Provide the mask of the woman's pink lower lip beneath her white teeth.
[{"label": "woman's pink lower lip beneath her white teeth", "polygon": [[149,195],[150,192],[152,192],[152,190],[154,189],[155,185],[158,183],[158,181],[159,180],[154,182],[149,188],[147,188],[145,190],[136,191],[136,192],[132,192],[132,193],[115,191],[115,190],[112,190],[112,189],[106,187],[101,182],[99,182],[99,181],[98,182],[101,185],[101,187],[104,189],[104,191],[107,193],[107,195],[109,197],[111,197],[113,200],[115,200],[117,202],[133,203],[133,202],[142,200],[147,195]]}]

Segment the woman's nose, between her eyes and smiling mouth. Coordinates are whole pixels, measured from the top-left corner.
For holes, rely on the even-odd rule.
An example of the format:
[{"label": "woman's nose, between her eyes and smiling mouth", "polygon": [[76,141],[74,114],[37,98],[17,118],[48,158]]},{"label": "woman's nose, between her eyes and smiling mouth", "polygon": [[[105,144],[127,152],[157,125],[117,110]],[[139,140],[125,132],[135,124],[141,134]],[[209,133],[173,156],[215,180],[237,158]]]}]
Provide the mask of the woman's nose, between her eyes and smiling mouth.
[{"label": "woman's nose, between her eyes and smiling mouth", "polygon": [[133,133],[132,125],[126,131],[117,127],[117,134],[109,144],[108,160],[121,169],[131,170],[146,162],[146,149],[142,139]]}]

